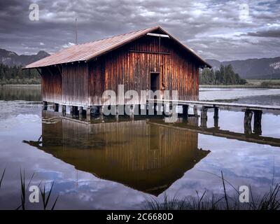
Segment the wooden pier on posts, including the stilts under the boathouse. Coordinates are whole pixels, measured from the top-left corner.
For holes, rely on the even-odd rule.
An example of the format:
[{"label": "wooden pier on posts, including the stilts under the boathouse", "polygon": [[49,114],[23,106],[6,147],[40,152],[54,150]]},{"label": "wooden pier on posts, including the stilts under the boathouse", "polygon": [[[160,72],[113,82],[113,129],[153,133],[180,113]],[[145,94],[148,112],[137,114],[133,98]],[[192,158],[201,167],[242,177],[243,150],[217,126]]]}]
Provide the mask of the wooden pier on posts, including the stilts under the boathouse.
[{"label": "wooden pier on posts, including the stilts under the boathouse", "polygon": [[[62,116],[66,116],[66,105],[62,104],[54,104],[49,102],[43,102],[43,110],[48,109],[48,105],[52,105],[52,109],[55,112],[61,112]],[[116,116],[116,121],[118,121],[119,111],[118,105],[115,106],[116,110],[113,116]],[[151,99],[146,102],[144,105],[126,105],[130,107],[130,118],[134,120],[134,111],[136,108],[139,109],[139,114],[141,115],[165,115],[172,116],[174,113],[174,109],[176,106],[182,107],[182,112],[180,116],[188,119],[189,116],[197,116],[200,117],[200,126],[202,128],[207,127],[208,120],[208,111],[209,109],[214,109],[214,127],[218,127],[218,118],[219,110],[229,110],[235,109],[244,112],[244,134],[262,134],[262,113],[263,112],[272,112],[280,113],[280,106],[271,106],[271,105],[257,105],[257,104],[235,104],[235,103],[226,103],[226,102],[202,102],[202,101],[170,101],[165,99]],[[138,107],[137,107],[138,106]],[[99,105],[95,106],[97,113],[99,114],[100,120],[104,120],[104,106]],[[168,107],[168,109],[167,109]],[[193,108],[193,113],[190,113],[189,108]],[[60,110],[59,110],[60,109]],[[151,110],[152,109],[152,110]],[[144,113],[143,113],[144,111]],[[153,111],[153,113],[151,113]],[[168,111],[168,112],[167,112]],[[198,112],[200,111],[200,116]],[[90,123],[92,119],[92,106],[69,106],[69,114],[71,117],[79,118],[79,120],[85,120],[85,122]],[[160,113],[160,114],[159,114]],[[175,111],[175,113],[177,113]],[[190,114],[189,114],[190,113]],[[137,115],[137,114],[135,114]],[[253,119],[253,131],[251,128],[251,122]]]}]

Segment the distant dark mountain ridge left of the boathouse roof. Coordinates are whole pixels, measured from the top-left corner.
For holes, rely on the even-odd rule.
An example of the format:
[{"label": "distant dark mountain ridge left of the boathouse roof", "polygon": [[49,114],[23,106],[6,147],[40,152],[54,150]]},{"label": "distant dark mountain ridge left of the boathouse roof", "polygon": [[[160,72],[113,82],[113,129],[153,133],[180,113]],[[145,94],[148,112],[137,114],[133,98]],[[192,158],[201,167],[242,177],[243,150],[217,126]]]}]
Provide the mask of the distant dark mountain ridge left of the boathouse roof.
[{"label": "distant dark mountain ridge left of the boathouse roof", "polygon": [[8,66],[25,66],[49,55],[43,50],[40,50],[36,55],[18,55],[15,52],[0,49],[0,63]]}]

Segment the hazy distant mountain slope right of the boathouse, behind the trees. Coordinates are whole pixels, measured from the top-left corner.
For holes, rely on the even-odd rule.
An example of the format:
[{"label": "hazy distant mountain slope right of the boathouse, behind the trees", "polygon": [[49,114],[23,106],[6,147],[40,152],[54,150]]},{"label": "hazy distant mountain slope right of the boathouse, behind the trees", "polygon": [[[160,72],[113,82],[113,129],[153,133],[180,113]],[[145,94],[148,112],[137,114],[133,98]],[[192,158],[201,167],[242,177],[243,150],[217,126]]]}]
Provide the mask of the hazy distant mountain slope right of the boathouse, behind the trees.
[{"label": "hazy distant mountain slope right of the boathouse, behind the trees", "polygon": [[253,58],[245,60],[234,60],[219,62],[215,59],[207,59],[213,69],[219,69],[221,64],[232,64],[236,73],[241,78],[280,78],[280,57],[274,58]]}]

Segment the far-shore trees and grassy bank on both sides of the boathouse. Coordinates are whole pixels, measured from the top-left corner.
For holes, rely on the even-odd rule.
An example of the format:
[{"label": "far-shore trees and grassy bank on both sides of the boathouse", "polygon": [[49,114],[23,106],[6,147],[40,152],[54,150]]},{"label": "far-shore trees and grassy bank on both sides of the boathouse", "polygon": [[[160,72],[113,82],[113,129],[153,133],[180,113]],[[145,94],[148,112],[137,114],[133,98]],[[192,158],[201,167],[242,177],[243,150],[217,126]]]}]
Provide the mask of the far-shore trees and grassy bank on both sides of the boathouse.
[{"label": "far-shore trees and grassy bank on both sides of the boathouse", "polygon": [[[0,64],[0,87],[41,87],[41,77],[34,69],[22,70],[22,66]],[[235,73],[231,64],[220,69],[202,69],[200,87],[208,88],[280,88],[279,79],[244,79]]]}]

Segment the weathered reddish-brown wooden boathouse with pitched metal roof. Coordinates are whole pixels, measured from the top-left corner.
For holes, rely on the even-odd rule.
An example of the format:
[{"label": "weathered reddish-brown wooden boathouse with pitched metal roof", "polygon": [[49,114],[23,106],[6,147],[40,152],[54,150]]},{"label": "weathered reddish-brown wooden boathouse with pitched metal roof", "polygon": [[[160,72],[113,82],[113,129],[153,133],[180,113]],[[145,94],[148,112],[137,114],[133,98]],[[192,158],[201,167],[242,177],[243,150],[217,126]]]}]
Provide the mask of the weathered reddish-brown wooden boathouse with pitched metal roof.
[{"label": "weathered reddish-brown wooden boathouse with pitched metal roof", "polygon": [[[198,100],[199,68],[211,67],[161,27],[73,45],[25,69],[41,74],[42,99],[73,110],[104,103],[105,90],[178,90],[179,100]],[[133,104],[146,104],[139,99]]]}]

